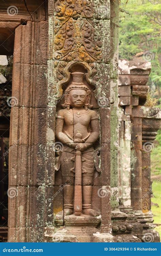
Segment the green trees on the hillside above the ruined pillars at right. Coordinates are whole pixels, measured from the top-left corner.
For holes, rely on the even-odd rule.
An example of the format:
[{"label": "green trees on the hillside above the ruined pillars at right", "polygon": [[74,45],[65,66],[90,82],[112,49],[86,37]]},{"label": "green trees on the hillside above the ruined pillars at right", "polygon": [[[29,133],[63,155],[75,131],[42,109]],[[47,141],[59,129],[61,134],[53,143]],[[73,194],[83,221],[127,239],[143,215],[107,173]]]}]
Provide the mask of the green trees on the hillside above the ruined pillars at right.
[{"label": "green trees on the hillside above the ruined pillars at right", "polygon": [[154,0],[121,0],[120,10],[119,58],[142,56],[150,61],[149,86],[153,97],[161,100],[161,4]]}]

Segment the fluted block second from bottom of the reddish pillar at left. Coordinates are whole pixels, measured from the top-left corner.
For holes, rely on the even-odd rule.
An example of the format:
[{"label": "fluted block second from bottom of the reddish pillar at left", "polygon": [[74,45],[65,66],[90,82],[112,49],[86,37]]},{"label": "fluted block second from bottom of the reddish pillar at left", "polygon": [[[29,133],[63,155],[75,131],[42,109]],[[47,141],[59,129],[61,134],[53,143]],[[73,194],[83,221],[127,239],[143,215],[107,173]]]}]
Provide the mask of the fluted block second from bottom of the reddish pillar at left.
[{"label": "fluted block second from bottom of the reddish pillar at left", "polygon": [[[11,227],[43,227],[44,219],[44,186],[9,187],[8,226]],[[14,196],[15,195],[15,196]]]}]

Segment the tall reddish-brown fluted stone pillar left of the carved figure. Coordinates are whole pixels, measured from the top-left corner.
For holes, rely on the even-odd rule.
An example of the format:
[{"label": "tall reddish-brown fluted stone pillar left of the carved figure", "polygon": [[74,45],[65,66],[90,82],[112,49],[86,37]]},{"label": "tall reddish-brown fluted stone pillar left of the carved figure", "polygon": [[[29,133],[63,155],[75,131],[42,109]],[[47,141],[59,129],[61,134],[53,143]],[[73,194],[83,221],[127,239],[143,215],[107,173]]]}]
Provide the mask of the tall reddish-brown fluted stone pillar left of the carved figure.
[{"label": "tall reddish-brown fluted stone pillar left of the carved figure", "polygon": [[15,31],[8,189],[8,241],[42,242],[46,204],[48,23]]}]

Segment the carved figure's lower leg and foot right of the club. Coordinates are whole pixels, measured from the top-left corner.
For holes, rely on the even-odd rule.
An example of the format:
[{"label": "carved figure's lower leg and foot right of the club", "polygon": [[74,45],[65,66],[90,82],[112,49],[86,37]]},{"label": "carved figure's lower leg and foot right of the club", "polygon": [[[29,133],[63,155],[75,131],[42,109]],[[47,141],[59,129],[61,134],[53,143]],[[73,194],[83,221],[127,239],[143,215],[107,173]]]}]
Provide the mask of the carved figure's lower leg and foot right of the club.
[{"label": "carved figure's lower leg and foot right of the club", "polygon": [[[91,175],[91,176],[89,176]],[[83,173],[82,175],[82,194],[83,194],[83,213],[90,216],[99,216],[100,211],[92,209],[92,180],[93,174]]]}]

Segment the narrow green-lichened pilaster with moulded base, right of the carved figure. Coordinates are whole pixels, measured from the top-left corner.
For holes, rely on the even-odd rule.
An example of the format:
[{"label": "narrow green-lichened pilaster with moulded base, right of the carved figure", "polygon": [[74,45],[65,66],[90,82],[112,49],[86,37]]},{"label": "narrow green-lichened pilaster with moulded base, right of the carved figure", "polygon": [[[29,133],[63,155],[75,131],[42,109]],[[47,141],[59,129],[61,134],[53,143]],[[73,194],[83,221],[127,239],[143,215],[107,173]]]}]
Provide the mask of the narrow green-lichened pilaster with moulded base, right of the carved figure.
[{"label": "narrow green-lichened pilaster with moulded base, right of the carved figure", "polygon": [[[118,28],[119,5],[111,1],[111,220],[112,234],[119,242],[138,242],[138,238],[130,235],[133,227],[126,222],[127,214],[119,209],[118,189],[118,146],[119,146],[119,120],[118,120]],[[130,100],[130,95],[129,95]],[[128,124],[126,124],[128,125]]]}]

